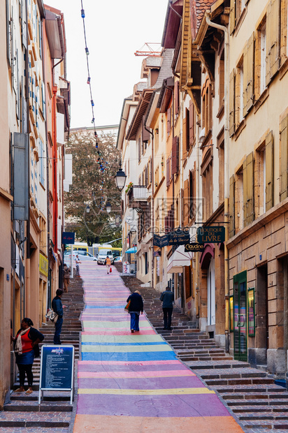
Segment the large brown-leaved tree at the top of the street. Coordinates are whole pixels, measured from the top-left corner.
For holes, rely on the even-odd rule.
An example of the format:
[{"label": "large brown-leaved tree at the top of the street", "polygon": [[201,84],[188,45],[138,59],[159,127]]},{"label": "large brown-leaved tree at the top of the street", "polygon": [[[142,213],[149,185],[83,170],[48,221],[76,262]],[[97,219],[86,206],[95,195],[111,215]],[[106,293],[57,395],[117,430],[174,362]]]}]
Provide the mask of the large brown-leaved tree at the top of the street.
[{"label": "large brown-leaved tree at the top of the street", "polygon": [[[64,193],[66,231],[75,232],[77,240],[88,245],[121,237],[121,224],[115,224],[115,217],[121,213],[121,194],[114,179],[121,156],[112,133],[102,134],[98,142],[96,149],[94,131],[76,131],[70,134],[66,146],[73,166],[73,184]],[[105,164],[103,172],[99,162]],[[106,212],[107,202],[112,207],[110,214]]]}]

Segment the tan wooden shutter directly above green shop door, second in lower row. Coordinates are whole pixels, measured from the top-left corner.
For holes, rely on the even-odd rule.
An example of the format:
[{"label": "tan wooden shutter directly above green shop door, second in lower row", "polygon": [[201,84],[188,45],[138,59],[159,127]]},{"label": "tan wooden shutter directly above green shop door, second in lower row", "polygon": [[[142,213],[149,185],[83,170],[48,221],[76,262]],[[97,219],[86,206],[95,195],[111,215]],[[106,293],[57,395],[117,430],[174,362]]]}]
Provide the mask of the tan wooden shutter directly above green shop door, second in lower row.
[{"label": "tan wooden shutter directly above green shop door, second in lower row", "polygon": [[243,163],[244,226],[254,221],[254,157],[251,152]]}]

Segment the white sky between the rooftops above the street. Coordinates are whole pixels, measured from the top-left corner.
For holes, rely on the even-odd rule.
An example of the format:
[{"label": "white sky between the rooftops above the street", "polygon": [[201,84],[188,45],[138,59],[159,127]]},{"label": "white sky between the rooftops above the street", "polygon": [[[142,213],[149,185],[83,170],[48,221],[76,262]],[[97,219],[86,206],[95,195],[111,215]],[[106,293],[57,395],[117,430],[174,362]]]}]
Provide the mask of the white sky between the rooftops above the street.
[{"label": "white sky between the rooftops above the street", "polygon": [[[124,98],[141,81],[136,57],[144,43],[161,43],[168,0],[82,0],[96,126],[119,124]],[[64,13],[71,128],[92,126],[80,0],[47,0]]]}]

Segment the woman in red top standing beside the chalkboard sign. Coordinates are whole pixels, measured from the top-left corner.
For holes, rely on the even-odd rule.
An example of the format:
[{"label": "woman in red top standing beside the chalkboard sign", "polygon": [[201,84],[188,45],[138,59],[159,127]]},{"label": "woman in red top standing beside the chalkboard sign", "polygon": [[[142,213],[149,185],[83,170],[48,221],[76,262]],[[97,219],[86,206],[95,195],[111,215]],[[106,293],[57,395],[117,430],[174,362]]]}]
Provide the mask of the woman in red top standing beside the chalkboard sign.
[{"label": "woman in red top standing beside the chalkboard sign", "polygon": [[12,337],[15,342],[16,364],[19,369],[20,388],[15,392],[24,392],[25,374],[27,375],[28,389],[26,394],[33,392],[33,373],[32,366],[34,358],[40,355],[39,346],[43,342],[44,335],[35,328],[32,328],[33,322],[31,318],[24,317],[21,322],[21,328],[17,332],[16,337]]}]

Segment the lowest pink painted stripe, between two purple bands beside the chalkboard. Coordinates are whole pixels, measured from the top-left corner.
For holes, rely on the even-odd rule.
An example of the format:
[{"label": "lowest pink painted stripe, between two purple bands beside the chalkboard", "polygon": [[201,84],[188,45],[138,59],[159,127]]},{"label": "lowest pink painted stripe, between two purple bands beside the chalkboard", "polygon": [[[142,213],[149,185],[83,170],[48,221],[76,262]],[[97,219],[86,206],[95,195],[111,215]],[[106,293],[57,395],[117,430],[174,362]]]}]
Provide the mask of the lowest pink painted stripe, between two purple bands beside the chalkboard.
[{"label": "lowest pink painted stripe, between two purple bands beside the chalkboard", "polygon": [[[163,376],[161,376],[161,374]],[[78,372],[81,378],[107,378],[107,379],[145,379],[148,377],[165,376],[196,376],[191,370],[164,370],[164,372]]]}]

